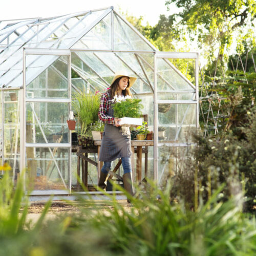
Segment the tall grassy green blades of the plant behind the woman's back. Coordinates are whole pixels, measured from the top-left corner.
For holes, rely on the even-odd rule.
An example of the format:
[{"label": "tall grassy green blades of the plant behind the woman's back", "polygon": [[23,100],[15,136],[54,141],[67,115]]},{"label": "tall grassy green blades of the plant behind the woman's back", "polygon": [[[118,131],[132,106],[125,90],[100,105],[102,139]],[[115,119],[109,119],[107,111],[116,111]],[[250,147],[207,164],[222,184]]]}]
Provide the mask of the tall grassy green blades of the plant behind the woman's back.
[{"label": "tall grassy green blades of the plant behind the woman's back", "polygon": [[83,92],[77,93],[75,98],[76,100],[72,102],[72,107],[80,123],[81,131],[79,134],[89,134],[91,136],[91,131],[98,121],[100,95]]}]

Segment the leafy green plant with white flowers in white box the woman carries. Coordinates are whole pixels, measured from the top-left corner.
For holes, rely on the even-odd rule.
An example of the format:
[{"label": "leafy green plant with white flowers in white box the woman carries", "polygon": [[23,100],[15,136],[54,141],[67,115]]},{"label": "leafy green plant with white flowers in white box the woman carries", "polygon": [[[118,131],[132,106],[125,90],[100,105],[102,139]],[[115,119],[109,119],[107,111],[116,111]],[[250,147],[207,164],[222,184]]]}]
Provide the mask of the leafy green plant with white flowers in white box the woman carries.
[{"label": "leafy green plant with white flowers in white box the woman carries", "polygon": [[127,95],[125,97],[115,96],[113,99],[114,116],[121,119],[121,126],[137,126],[142,124],[142,108],[141,99],[132,98]]}]

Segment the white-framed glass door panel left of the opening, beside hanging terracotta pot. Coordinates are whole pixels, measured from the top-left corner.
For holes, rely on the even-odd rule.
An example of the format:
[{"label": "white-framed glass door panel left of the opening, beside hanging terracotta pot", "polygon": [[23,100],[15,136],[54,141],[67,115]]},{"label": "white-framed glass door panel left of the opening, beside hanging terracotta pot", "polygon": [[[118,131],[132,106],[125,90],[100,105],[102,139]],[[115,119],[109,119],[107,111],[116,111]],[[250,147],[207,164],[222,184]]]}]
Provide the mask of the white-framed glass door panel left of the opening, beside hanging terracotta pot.
[{"label": "white-framed glass door panel left of the opening, beside hanging terracotta pot", "polygon": [[[71,191],[71,57],[69,50],[24,49],[20,152],[26,190]],[[38,191],[40,190],[40,191]]]}]

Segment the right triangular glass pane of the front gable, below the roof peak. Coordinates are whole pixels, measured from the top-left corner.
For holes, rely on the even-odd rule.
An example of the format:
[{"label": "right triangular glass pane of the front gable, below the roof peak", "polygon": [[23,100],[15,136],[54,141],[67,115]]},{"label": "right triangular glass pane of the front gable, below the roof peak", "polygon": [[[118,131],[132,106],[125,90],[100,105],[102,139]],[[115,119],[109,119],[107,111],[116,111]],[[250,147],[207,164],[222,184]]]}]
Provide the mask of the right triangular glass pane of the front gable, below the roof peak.
[{"label": "right triangular glass pane of the front gable, below the roof peak", "polygon": [[116,15],[114,15],[114,49],[153,51],[139,35]]}]

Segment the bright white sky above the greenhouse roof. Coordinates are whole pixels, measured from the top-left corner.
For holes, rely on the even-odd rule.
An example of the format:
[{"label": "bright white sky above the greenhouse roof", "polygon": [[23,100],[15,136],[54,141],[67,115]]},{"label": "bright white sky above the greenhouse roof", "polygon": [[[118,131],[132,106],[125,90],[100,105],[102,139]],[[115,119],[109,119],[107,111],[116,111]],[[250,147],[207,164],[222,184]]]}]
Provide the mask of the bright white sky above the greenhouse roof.
[{"label": "bright white sky above the greenhouse roof", "polygon": [[[164,5],[166,0],[1,0],[0,20],[53,17],[104,7],[114,6],[120,13],[143,16],[142,24],[148,22],[154,26],[157,24],[160,14],[171,14],[167,12]],[[156,4],[157,3],[157,4]],[[172,12],[175,8],[172,8]]]}]

